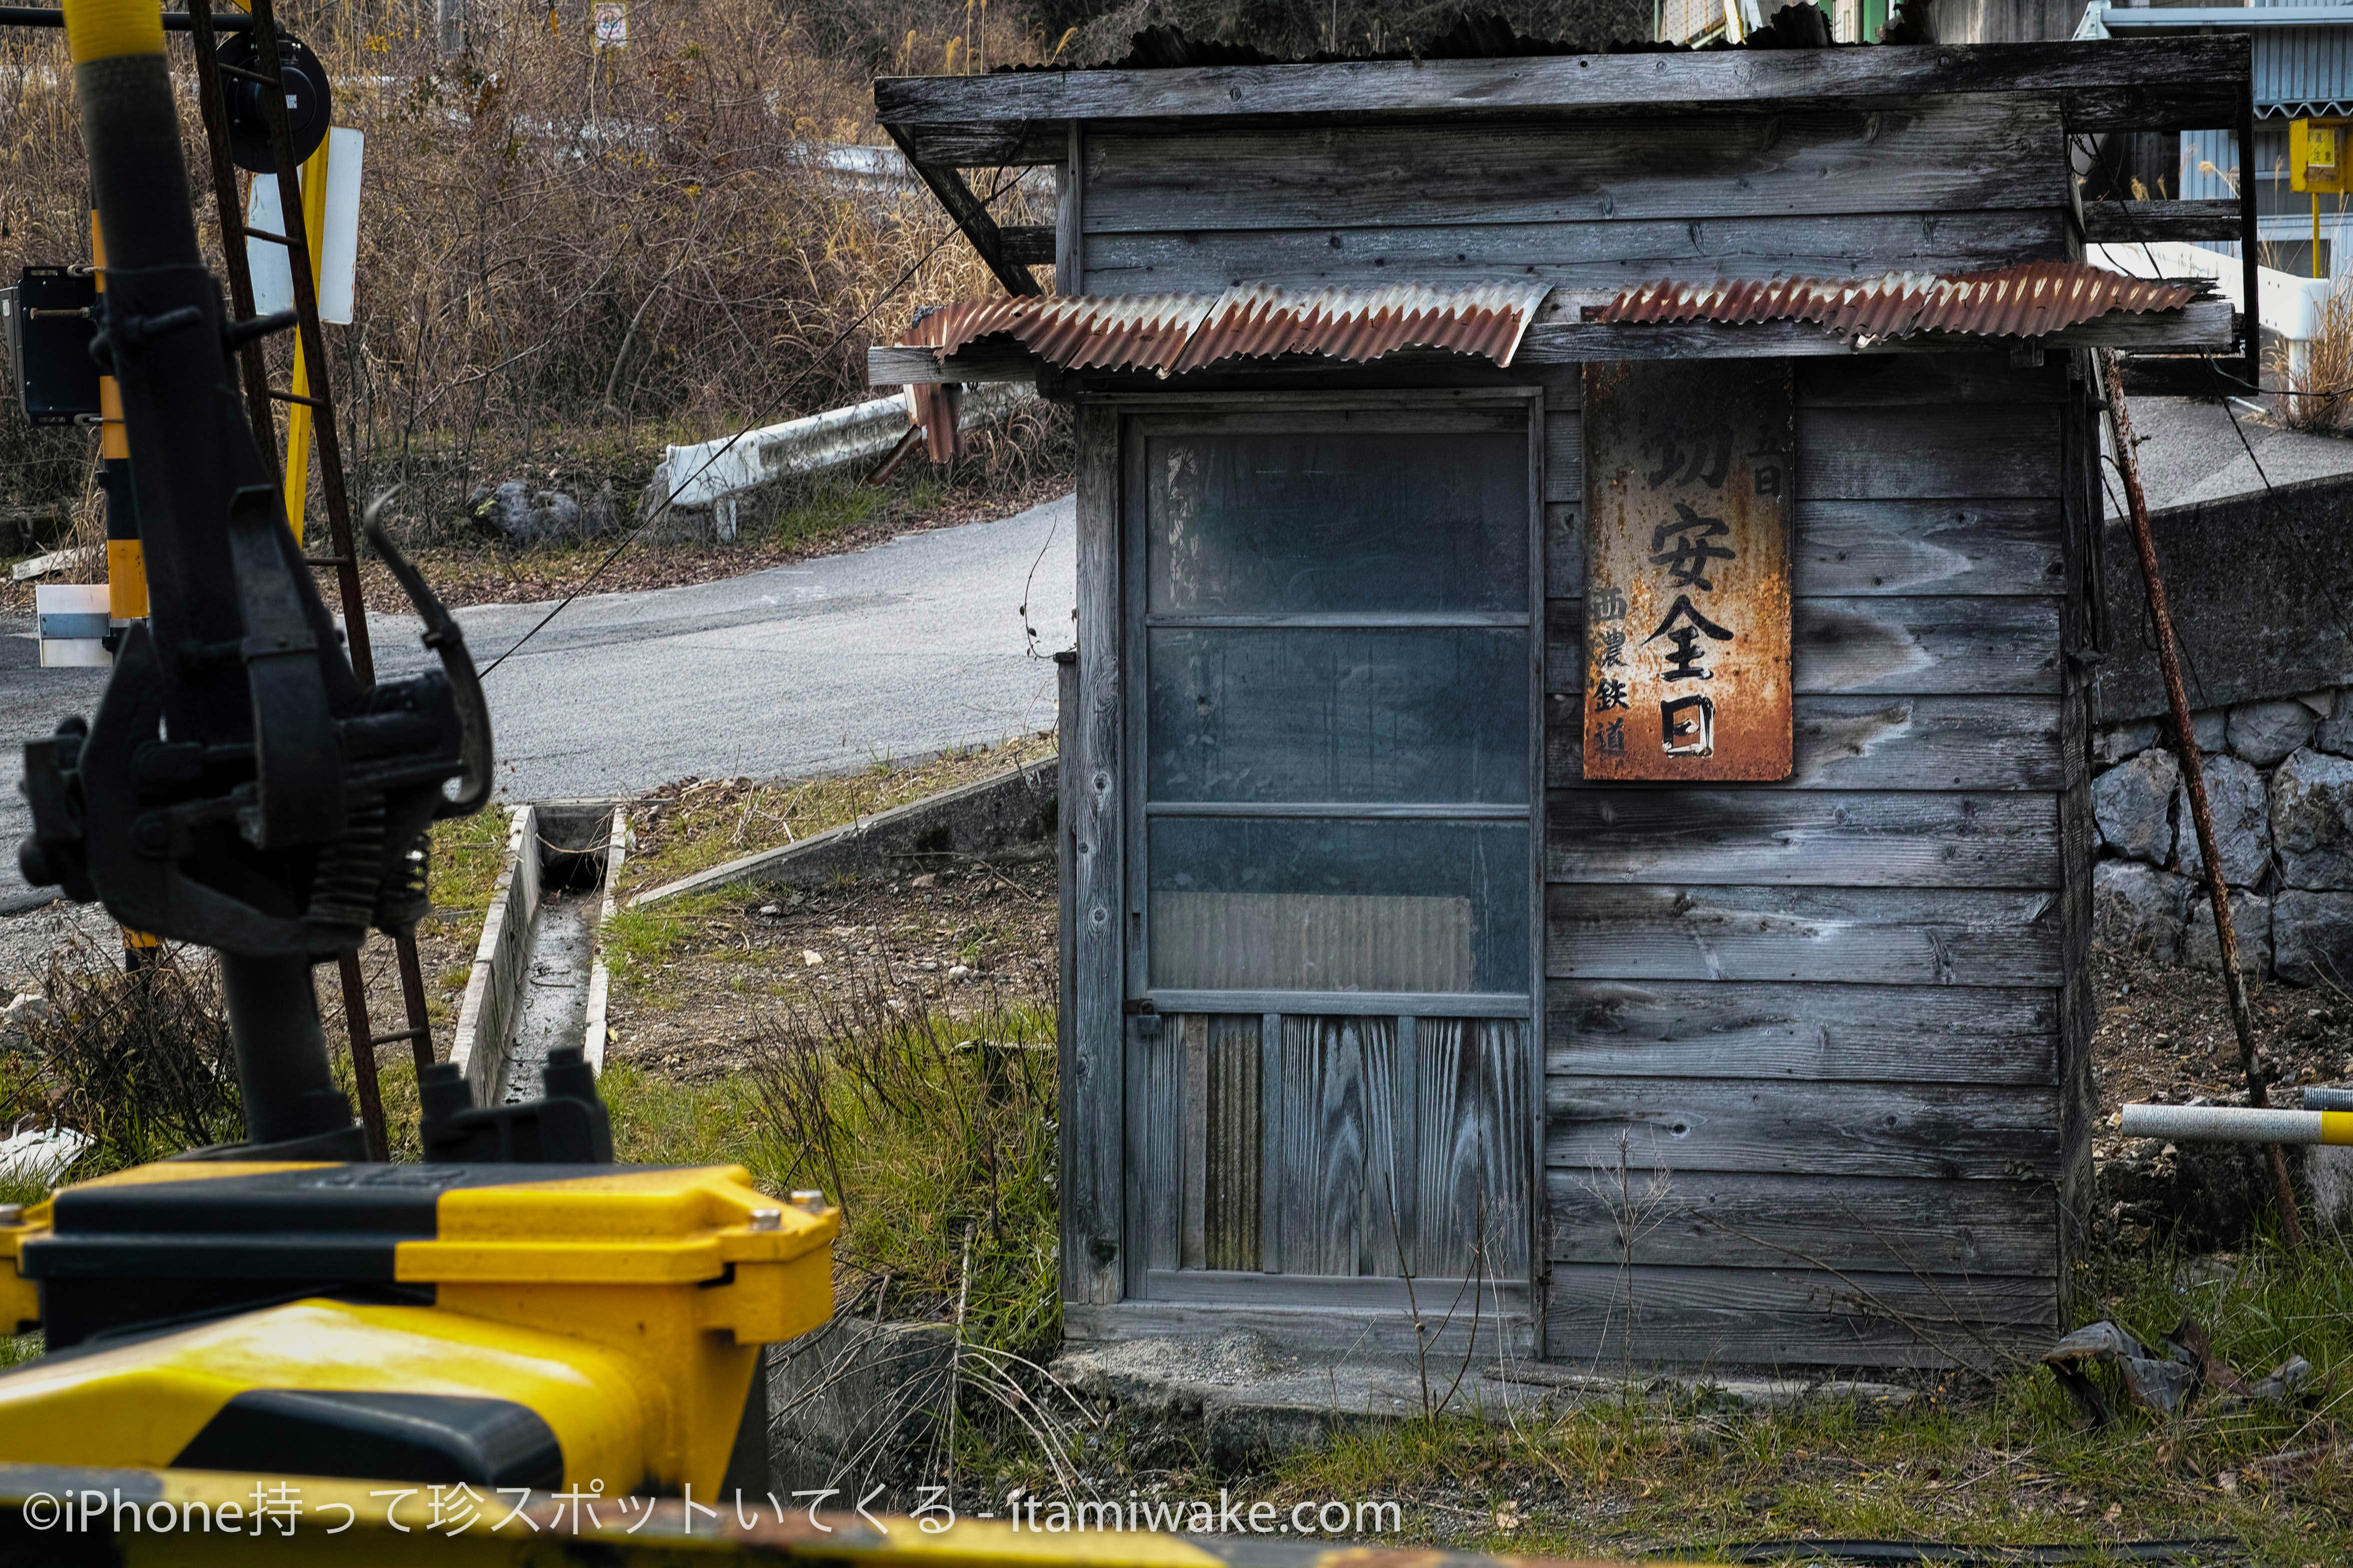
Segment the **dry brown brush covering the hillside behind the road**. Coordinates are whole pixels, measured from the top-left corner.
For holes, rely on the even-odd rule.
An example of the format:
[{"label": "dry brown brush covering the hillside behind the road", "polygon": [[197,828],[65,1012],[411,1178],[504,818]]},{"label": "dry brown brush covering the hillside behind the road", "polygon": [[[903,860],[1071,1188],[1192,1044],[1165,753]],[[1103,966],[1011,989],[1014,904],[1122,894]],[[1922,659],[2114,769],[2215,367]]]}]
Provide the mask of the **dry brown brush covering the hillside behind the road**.
[{"label": "dry brown brush covering the hillside behind the road", "polygon": [[[431,7],[294,0],[280,21],[367,134],[358,303],[327,346],[353,489],[402,484],[412,538],[482,480],[633,496],[664,442],[866,397],[866,346],[915,303],[998,292],[929,193],[854,148],[885,143],[873,71],[1026,59],[1002,7],[664,0],[631,9],[626,49],[595,49],[586,7],[475,5],[456,59]],[[188,42],[172,52],[219,261]],[[0,33],[0,268],[85,259],[61,33]],[[974,183],[1000,219],[1042,221],[1049,183],[1016,174]],[[280,386],[289,355],[271,343]],[[0,494],[75,498],[87,447],[0,421]]]}]

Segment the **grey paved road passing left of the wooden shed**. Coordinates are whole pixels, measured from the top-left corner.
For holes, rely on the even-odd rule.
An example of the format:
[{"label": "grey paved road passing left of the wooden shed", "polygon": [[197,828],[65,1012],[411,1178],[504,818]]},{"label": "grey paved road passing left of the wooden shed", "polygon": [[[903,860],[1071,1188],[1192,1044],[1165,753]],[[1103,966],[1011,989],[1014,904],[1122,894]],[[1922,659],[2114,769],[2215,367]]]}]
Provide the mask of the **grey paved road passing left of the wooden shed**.
[{"label": "grey paved road passing left of the wooden shed", "polygon": [[[487,679],[508,799],[633,795],[689,773],[861,766],[1054,726],[1071,644],[1073,503],[908,534],[725,583],[584,597]],[[1035,564],[1035,578],[1031,569]],[[1040,656],[1021,632],[1024,585]],[[548,604],[459,611],[487,665]],[[416,621],[369,616],[376,668],[421,668]],[[0,738],[92,712],[101,670],[40,670],[28,628],[0,635]],[[7,759],[0,771],[14,776]],[[24,802],[0,797],[0,910],[26,898]]]}]

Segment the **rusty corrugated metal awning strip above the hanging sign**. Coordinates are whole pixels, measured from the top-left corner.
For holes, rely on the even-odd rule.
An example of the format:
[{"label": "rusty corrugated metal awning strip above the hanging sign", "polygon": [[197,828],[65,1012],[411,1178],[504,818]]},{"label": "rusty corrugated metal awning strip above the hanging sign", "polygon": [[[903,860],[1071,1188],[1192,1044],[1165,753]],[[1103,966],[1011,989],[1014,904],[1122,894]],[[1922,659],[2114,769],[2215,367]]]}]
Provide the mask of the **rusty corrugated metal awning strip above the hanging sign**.
[{"label": "rusty corrugated metal awning strip above the hanging sign", "polygon": [[1901,339],[1913,331],[2038,339],[2111,310],[2179,310],[2200,282],[2122,277],[2078,261],[2028,261],[1944,277],[1779,277],[1772,282],[1645,282],[1593,322],[1821,322],[1842,336]]}]

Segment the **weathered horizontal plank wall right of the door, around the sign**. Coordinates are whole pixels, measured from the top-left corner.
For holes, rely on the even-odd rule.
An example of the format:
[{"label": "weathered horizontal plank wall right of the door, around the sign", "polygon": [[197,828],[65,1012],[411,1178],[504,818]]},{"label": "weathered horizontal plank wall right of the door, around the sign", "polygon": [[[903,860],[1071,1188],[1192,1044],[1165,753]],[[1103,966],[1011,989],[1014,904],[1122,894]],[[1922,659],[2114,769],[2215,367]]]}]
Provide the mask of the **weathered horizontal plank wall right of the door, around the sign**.
[{"label": "weathered horizontal plank wall right of the door, around the sign", "polygon": [[[1798,374],[1786,783],[1581,778],[1581,470],[1548,487],[1548,1356],[1984,1361],[2057,1326],[2075,390],[2066,355],[1849,369]],[[1548,425],[1558,468],[1569,397]]]}]

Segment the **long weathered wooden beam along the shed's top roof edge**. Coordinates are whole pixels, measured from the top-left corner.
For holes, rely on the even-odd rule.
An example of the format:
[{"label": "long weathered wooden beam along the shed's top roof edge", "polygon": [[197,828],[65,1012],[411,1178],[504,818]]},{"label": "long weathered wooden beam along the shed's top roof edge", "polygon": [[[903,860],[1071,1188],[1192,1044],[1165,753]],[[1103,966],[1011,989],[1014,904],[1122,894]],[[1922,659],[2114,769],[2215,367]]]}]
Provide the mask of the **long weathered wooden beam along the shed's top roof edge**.
[{"label": "long weathered wooden beam along the shed's top roof edge", "polygon": [[[1193,66],[1179,71],[1021,71],[882,78],[875,115],[965,167],[1054,162],[1068,120],[1249,120],[1282,115],[1626,115],[1897,99],[1948,92],[2059,94],[2071,118],[2118,115],[2235,125],[2252,82],[2242,33],[2106,42],[1878,49],[1722,49],[1704,54],[1553,54],[1527,59]],[[2082,127],[2080,127],[2082,129]]]}]

